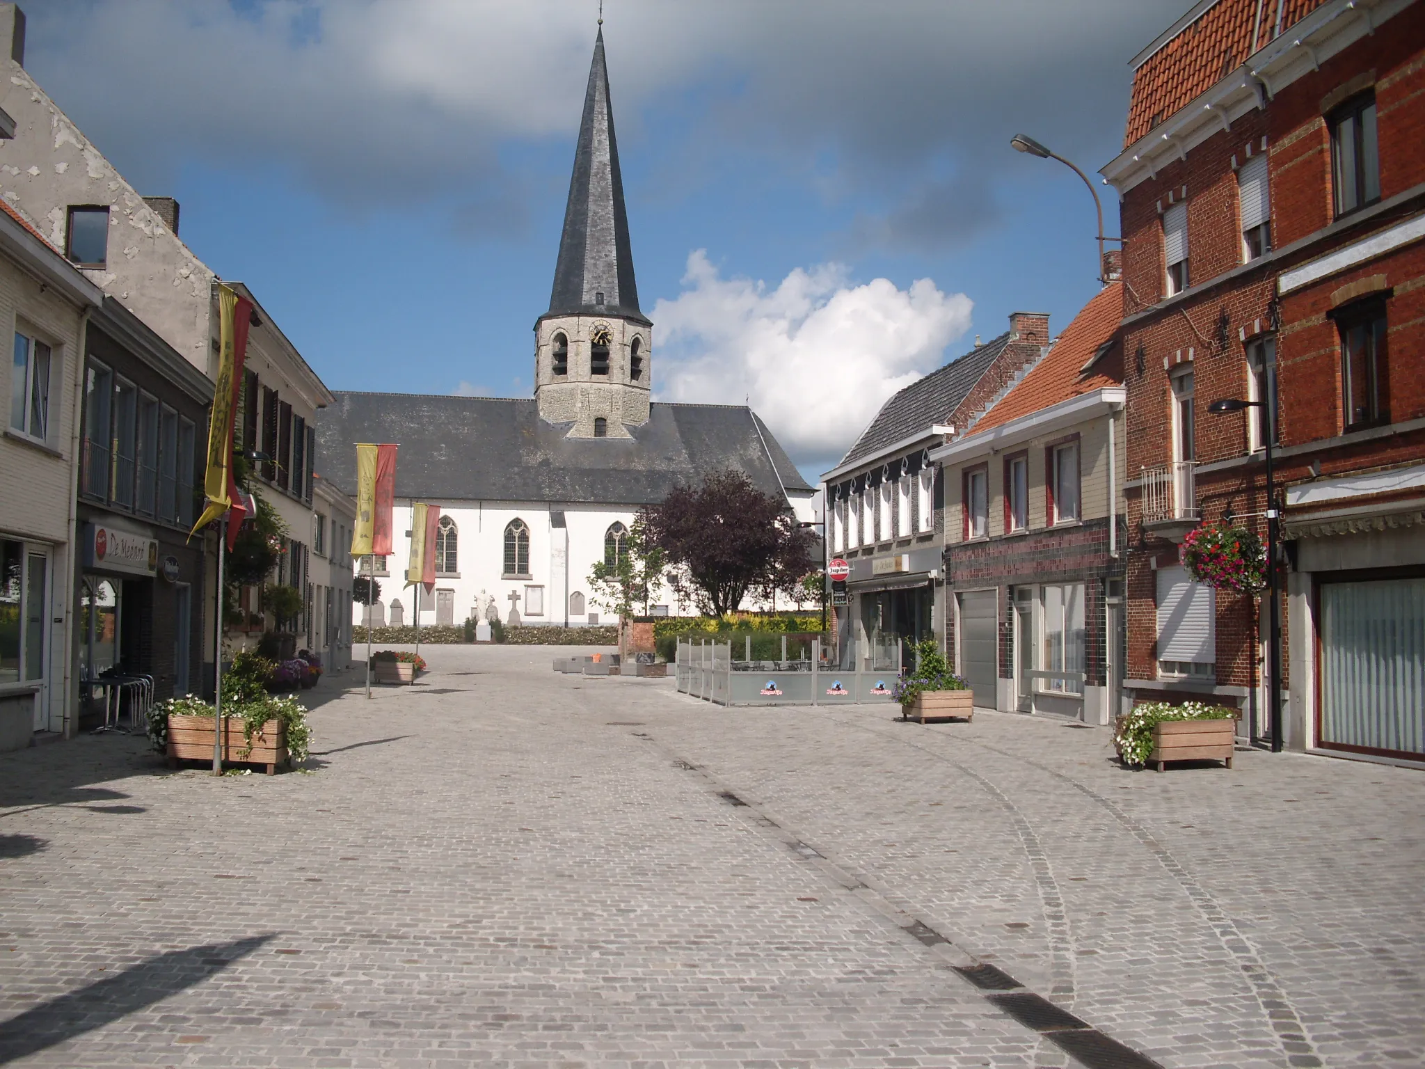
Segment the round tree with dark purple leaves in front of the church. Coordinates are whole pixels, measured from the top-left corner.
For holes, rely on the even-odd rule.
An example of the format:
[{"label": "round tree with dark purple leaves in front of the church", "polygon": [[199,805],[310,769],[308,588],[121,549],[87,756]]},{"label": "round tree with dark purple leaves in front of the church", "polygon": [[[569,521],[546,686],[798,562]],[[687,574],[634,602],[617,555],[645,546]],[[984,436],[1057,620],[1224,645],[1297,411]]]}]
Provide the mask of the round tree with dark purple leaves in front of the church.
[{"label": "round tree with dark purple leaves in front of the church", "polygon": [[677,486],[644,509],[640,523],[671,566],[678,597],[711,616],[735,613],[748,594],[794,592],[814,567],[815,539],[787,499],[757,489],[742,472]]}]

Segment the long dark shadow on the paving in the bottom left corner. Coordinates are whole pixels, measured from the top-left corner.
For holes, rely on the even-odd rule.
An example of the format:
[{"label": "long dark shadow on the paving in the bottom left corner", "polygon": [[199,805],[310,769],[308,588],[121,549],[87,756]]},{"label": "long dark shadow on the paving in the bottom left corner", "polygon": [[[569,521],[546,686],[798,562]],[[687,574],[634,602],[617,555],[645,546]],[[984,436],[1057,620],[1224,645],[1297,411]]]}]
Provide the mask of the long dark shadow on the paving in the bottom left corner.
[{"label": "long dark shadow on the paving in the bottom left corner", "polygon": [[162,1002],[170,995],[217,975],[272,938],[275,932],[235,942],[168,951],[78,991],[47,999],[19,1016],[0,1022],[0,1065],[27,1058]]}]

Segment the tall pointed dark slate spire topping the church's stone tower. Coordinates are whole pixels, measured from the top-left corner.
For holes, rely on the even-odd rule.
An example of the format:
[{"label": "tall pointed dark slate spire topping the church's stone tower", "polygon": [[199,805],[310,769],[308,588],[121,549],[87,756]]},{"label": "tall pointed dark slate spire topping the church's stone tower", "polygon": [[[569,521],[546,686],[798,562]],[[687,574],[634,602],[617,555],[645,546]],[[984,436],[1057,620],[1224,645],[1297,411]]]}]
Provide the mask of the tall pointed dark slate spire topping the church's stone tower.
[{"label": "tall pointed dark slate spire topping the church's stone tower", "polygon": [[[601,13],[600,13],[601,14]],[[604,30],[600,19],[569,181],[564,234],[559,242],[549,315],[610,315],[648,324],[638,311],[628,214],[624,210],[618,143],[608,103]]]}]

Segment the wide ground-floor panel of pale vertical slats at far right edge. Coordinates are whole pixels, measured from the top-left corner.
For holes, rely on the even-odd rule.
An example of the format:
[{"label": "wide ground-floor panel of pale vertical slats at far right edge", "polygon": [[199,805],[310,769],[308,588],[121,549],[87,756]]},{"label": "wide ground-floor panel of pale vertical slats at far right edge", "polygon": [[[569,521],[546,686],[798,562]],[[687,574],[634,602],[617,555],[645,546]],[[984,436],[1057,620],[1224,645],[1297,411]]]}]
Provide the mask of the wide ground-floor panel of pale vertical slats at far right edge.
[{"label": "wide ground-floor panel of pale vertical slats at far right edge", "polygon": [[1425,754],[1425,579],[1321,584],[1321,745]]}]

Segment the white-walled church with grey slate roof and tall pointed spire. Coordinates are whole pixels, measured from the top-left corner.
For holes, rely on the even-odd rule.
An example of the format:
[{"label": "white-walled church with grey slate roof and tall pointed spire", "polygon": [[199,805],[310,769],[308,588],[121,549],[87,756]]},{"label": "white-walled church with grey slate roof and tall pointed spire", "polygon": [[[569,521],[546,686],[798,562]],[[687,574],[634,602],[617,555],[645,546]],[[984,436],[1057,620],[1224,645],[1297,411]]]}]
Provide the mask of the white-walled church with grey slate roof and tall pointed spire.
[{"label": "white-walled church with grey slate roof and tall pointed spire", "polygon": [[[812,519],[814,487],[751,408],[651,399],[653,341],[638,308],[600,27],[554,286],[534,322],[534,396],[336,392],[318,418],[318,472],[348,493],[358,442],[399,446],[393,553],[375,562],[375,623],[415,623],[405,569],[416,502],[440,510],[422,624],[496,613],[523,624],[610,623],[587,586],[596,562],[618,550],[638,509],[717,470],[744,472]],[[653,611],[697,610],[663,590]]]}]

